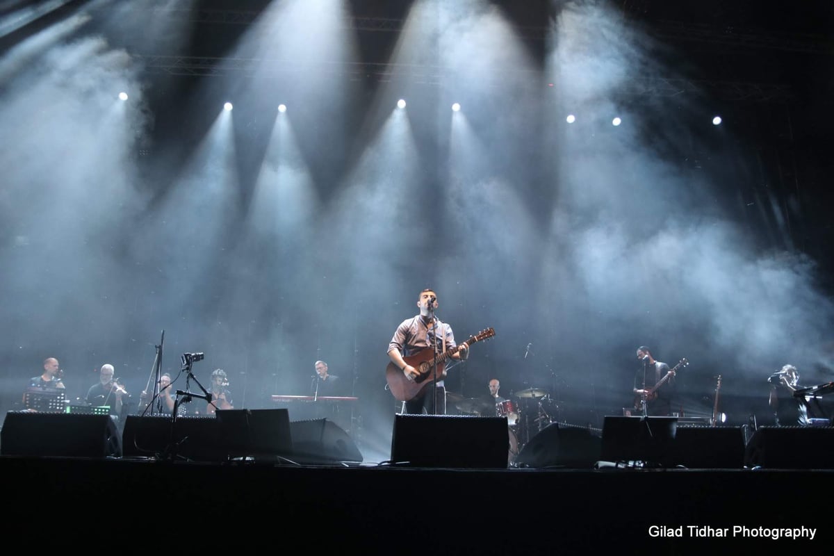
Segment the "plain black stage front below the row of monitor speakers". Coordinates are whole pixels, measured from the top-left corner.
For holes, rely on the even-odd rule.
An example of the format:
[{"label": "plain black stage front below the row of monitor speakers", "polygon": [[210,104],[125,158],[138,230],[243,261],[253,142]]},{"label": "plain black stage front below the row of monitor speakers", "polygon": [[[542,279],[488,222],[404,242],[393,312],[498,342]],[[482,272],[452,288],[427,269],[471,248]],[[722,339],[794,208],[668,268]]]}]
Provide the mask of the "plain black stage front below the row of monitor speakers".
[{"label": "plain black stage front below the row of monitor speakers", "polygon": [[[101,546],[110,534],[130,543],[153,530],[146,549],[182,543],[188,553],[222,545],[681,554],[825,550],[834,540],[834,471],[827,469],[400,468],[3,456],[0,484],[6,530],[38,538],[44,547],[67,546],[96,530]],[[48,533],[56,523],[58,538]],[[786,531],[805,536],[785,538]]]}]

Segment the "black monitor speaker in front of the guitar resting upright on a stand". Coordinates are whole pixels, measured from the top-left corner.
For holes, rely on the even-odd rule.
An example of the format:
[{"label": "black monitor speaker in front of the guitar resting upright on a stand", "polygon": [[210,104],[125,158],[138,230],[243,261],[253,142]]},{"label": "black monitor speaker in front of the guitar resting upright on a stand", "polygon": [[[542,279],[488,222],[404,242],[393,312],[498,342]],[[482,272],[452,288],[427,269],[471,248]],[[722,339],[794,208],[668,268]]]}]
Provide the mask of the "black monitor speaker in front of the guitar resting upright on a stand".
[{"label": "black monitor speaker in front of the guitar resting upright on a stand", "polygon": [[678,424],[667,467],[741,469],[744,467],[746,427],[683,426]]}]

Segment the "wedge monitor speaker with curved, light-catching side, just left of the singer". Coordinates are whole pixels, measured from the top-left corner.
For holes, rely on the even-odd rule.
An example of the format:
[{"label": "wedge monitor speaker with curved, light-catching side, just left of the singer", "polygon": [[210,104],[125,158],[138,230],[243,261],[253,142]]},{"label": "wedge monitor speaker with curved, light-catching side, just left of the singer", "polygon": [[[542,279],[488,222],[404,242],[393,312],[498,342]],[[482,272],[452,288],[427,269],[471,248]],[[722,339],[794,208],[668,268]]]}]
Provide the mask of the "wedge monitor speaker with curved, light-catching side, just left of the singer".
[{"label": "wedge monitor speaker with curved, light-catching side, just left of the singer", "polygon": [[353,438],[326,418],[289,423],[297,463],[362,463]]}]

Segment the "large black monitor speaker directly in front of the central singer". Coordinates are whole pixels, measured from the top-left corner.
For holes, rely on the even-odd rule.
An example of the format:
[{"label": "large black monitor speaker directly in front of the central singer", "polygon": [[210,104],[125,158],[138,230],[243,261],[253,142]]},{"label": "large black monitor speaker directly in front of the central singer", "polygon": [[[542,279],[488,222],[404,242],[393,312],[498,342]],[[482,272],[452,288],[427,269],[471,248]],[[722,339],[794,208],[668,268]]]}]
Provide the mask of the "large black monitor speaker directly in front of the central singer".
[{"label": "large black monitor speaker directly in front of the central singer", "polygon": [[396,415],[391,462],[427,468],[506,468],[505,417]]}]

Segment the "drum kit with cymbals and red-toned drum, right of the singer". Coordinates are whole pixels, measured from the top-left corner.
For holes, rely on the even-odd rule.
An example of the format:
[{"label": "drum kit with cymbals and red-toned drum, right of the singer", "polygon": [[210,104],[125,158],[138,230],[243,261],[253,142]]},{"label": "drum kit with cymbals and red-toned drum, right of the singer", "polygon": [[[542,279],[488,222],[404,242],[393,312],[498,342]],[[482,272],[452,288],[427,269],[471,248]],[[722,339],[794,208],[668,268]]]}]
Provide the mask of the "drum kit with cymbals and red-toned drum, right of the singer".
[{"label": "drum kit with cymbals and red-toned drum, right of the singer", "polygon": [[[526,388],[513,394],[518,403],[512,399],[500,398],[492,402],[489,396],[484,398],[460,398],[455,394],[455,408],[465,415],[479,417],[505,417],[509,428],[510,445],[507,454],[507,466],[515,467],[515,460],[525,443],[530,442],[543,428],[558,420],[559,405],[550,399],[550,393],[541,388]],[[448,401],[453,401],[447,397]],[[521,440],[521,441],[520,441]]]}]

